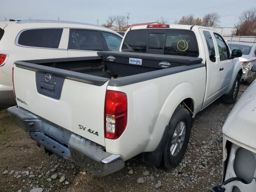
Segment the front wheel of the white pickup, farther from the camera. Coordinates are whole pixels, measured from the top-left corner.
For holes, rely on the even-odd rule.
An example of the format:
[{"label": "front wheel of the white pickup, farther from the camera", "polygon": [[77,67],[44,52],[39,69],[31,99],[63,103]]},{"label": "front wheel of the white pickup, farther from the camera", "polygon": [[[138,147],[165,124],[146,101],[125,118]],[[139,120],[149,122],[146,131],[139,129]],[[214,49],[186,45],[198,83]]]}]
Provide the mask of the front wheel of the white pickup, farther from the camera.
[{"label": "front wheel of the white pickup, farther from the camera", "polygon": [[240,79],[241,79],[240,74],[237,74],[230,92],[221,97],[222,102],[228,103],[228,104],[234,104],[236,102],[236,98],[240,88]]}]

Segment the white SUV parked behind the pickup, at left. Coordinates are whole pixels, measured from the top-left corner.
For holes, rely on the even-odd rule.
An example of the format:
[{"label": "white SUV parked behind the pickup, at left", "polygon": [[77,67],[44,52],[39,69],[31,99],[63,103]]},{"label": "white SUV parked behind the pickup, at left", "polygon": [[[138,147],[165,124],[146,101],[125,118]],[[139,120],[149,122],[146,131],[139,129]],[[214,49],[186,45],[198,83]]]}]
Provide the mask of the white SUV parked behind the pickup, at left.
[{"label": "white SUV parked behind the pickup, at left", "polygon": [[16,104],[12,67],[17,60],[97,56],[119,50],[122,36],[108,28],[53,20],[0,22],[0,106]]}]

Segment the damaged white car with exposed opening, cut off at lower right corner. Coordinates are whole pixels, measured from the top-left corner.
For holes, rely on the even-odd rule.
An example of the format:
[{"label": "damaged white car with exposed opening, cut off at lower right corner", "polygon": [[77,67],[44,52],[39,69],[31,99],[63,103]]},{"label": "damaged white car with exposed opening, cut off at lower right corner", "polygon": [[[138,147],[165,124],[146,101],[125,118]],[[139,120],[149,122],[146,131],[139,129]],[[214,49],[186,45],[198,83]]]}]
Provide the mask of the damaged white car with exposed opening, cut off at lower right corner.
[{"label": "damaged white car with exposed opening, cut off at lower right corner", "polygon": [[[256,80],[242,94],[222,127],[225,192],[256,191]],[[208,191],[217,190],[214,186]]]}]

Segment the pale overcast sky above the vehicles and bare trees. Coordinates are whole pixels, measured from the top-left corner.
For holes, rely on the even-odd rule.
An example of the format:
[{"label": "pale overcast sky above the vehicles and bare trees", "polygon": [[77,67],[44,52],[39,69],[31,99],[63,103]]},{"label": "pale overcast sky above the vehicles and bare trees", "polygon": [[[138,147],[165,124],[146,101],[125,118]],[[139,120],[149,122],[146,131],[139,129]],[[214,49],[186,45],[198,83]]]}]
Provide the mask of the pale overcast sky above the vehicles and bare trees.
[{"label": "pale overcast sky above the vehicles and bare trees", "polygon": [[[217,12],[220,26],[233,27],[236,16],[256,6],[256,0],[2,0],[0,20],[48,19],[99,24],[108,16],[131,13],[128,24],[154,22],[161,16],[173,24],[182,16]],[[238,17],[237,17],[238,21]]]}]

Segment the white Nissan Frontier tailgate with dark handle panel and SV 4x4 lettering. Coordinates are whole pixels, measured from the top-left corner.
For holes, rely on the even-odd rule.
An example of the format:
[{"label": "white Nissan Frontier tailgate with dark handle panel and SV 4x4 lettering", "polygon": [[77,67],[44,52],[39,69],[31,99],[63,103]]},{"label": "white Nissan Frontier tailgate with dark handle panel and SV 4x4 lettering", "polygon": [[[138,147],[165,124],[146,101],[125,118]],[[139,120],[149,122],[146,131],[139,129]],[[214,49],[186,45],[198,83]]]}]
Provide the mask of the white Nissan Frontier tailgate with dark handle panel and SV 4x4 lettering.
[{"label": "white Nissan Frontier tailgate with dark handle panel and SV 4x4 lettering", "polygon": [[102,146],[108,80],[25,62],[14,66],[18,106]]}]

